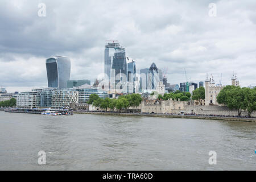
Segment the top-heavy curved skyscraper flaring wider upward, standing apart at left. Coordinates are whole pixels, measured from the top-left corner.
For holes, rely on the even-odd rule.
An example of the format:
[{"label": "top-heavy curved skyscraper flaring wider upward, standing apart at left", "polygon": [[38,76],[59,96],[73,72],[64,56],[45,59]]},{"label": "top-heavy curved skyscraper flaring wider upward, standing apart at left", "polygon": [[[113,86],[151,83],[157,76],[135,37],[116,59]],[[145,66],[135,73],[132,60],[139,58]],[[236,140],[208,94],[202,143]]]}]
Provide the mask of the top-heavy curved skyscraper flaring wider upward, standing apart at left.
[{"label": "top-heavy curved skyscraper flaring wider upward, standing apart at left", "polygon": [[67,81],[70,78],[71,71],[69,57],[50,57],[46,60],[46,70],[49,88],[67,88]]}]

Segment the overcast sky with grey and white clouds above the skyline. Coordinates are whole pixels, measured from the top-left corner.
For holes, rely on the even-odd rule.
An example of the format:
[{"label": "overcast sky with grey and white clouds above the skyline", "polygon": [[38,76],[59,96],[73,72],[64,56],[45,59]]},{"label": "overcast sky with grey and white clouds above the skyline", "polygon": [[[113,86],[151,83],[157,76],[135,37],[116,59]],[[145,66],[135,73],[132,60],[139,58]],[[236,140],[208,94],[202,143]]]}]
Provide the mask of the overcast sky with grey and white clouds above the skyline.
[{"label": "overcast sky with grey and white clouds above the skyline", "polygon": [[[46,16],[38,16],[39,3]],[[209,16],[216,3],[216,16]],[[41,11],[40,11],[41,12]],[[212,12],[212,11],[210,11]],[[213,15],[213,14],[211,14]],[[118,40],[137,72],[154,62],[171,84],[256,85],[256,1],[0,1],[0,86],[47,87],[45,60],[71,58],[71,79],[104,72],[104,44]]]}]

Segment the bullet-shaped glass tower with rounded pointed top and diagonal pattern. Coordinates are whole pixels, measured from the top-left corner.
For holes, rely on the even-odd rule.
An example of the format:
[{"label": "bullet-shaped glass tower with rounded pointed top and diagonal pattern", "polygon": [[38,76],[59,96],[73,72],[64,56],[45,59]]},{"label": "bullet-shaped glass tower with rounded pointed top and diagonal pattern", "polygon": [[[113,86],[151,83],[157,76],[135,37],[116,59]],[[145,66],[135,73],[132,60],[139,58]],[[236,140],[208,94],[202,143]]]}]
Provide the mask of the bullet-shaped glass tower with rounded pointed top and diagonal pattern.
[{"label": "bullet-shaped glass tower with rounded pointed top and diagonal pattern", "polygon": [[147,89],[156,89],[159,81],[158,68],[155,63],[152,63],[147,73]]}]

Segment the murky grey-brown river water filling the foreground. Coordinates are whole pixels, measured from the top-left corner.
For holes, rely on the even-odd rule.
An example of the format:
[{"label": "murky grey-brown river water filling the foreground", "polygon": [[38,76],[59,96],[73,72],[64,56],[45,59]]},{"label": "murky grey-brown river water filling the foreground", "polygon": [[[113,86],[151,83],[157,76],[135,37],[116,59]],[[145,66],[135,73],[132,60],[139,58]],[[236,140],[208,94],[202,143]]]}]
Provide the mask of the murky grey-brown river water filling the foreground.
[{"label": "murky grey-brown river water filling the foreground", "polygon": [[255,170],[255,150],[250,122],[0,111],[0,170]]}]

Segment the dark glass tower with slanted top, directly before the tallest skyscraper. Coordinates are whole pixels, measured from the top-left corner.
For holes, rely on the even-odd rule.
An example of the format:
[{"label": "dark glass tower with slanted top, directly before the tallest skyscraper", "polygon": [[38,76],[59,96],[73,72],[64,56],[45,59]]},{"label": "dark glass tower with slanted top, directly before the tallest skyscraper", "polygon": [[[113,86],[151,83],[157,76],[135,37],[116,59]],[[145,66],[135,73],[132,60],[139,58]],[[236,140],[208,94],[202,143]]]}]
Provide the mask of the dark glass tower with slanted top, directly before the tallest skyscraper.
[{"label": "dark glass tower with slanted top, directly before the tallest skyscraper", "polygon": [[[112,71],[115,72],[115,85],[119,82],[125,83],[127,78],[127,65],[126,65],[126,56],[125,56],[125,48],[115,49]],[[122,89],[118,88],[118,89]]]}]

